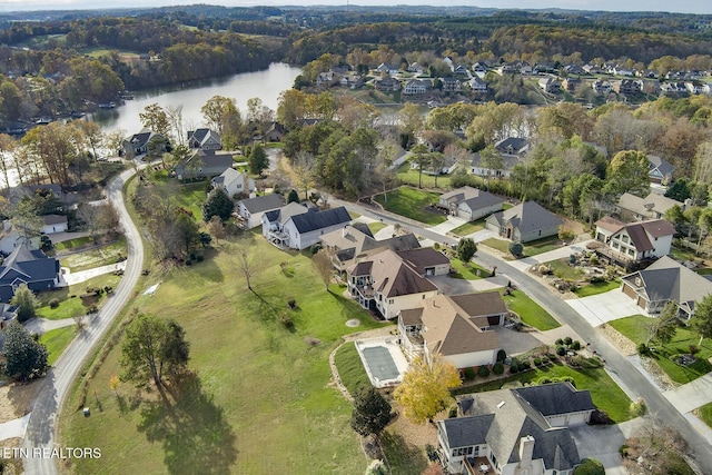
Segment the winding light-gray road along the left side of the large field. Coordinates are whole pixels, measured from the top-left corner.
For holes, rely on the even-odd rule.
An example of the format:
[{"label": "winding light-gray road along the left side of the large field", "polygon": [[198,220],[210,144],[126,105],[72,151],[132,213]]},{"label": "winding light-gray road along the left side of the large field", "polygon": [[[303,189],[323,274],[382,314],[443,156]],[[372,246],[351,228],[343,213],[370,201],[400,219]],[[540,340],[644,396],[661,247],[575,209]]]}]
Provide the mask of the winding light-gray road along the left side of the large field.
[{"label": "winding light-gray road along the left side of the large field", "polygon": [[[108,198],[119,211],[128,245],[128,260],[123,278],[117,286],[115,295],[107,300],[83,334],[67,347],[44,378],[30,414],[26,437],[22,442],[23,447],[30,449],[33,447],[55,447],[57,413],[77,373],[83,365],[87,355],[109,328],[111,320],[134,294],[134,287],[144,267],[144,244],[123,205],[123,195],[121,192],[123,184],[134,172],[132,169],[122,172],[111,181],[108,189]],[[32,475],[57,474],[57,461],[52,458],[27,458],[24,459],[24,473]]]}]

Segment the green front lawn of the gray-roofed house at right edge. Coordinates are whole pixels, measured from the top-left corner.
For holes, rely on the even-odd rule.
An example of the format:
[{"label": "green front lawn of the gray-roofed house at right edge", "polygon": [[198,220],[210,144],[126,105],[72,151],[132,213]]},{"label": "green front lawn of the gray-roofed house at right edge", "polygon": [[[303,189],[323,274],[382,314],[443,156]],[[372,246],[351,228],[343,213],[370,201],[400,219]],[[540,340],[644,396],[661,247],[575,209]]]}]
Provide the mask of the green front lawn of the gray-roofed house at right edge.
[{"label": "green front lawn of the gray-roofed house at right edge", "polygon": [[[613,320],[610,325],[637,345],[647,342],[644,328],[646,320],[647,317],[634,315]],[[656,345],[652,358],[675,383],[690,383],[712,370],[712,365],[709,363],[709,358],[712,357],[712,342],[702,342],[702,346],[699,347],[700,353],[695,355],[696,362],[690,366],[679,365],[672,358],[675,355],[690,353],[690,345],[696,346],[698,343],[700,343],[700,335],[686,327],[680,327],[672,342],[668,345]]]}]

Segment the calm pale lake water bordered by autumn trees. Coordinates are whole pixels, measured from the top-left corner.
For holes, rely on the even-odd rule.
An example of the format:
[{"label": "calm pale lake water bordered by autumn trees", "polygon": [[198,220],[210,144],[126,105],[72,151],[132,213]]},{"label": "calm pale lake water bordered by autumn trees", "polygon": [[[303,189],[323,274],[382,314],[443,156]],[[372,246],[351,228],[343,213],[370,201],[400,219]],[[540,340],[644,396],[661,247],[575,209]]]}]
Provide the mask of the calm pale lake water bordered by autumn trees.
[{"label": "calm pale lake water bordered by autumn trees", "polygon": [[277,110],[279,93],[291,89],[294,79],[301,73],[300,68],[285,63],[273,63],[269,69],[257,72],[244,72],[221,79],[191,82],[185,87],[170,86],[134,92],[134,100],[110,110],[100,110],[88,117],[98,122],[105,131],[122,129],[136,133],[141,129],[139,112],[146,106],[158,103],[162,108],[182,106],[182,121],[188,129],[202,126],[200,108],[212,96],[235,99],[235,103],[245,112],[247,100],[258,97],[263,103]]}]

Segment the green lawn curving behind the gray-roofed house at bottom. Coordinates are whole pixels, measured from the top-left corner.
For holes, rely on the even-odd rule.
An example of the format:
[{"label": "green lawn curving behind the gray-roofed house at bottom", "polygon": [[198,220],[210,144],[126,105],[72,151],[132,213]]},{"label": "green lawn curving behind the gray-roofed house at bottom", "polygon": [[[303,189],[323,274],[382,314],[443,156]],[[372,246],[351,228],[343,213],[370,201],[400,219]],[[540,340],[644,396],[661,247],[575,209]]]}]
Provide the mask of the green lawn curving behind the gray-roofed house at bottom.
[{"label": "green lawn curving behind the gray-roofed house at bottom", "polygon": [[458,394],[482,393],[486,390],[500,389],[504,384],[520,382],[527,384],[536,382],[542,377],[565,377],[570,376],[574,379],[577,389],[589,389],[593,404],[597,408],[609,413],[612,423],[622,423],[632,417],[629,407],[631,399],[625,395],[623,389],[607,375],[605,369],[574,369],[561,363],[537,367],[525,373],[518,373],[505,379],[497,379],[477,386],[469,386],[458,389]]}]

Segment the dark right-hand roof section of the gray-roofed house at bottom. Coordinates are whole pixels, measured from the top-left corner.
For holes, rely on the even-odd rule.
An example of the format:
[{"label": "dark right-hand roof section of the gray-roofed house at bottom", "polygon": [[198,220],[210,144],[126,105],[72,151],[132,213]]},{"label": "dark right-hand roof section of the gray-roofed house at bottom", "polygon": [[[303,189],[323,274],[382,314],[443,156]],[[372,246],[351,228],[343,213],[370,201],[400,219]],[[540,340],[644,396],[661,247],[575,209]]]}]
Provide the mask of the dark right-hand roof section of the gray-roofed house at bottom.
[{"label": "dark right-hand roof section of the gray-roofed house at bottom", "polygon": [[543,416],[593,410],[589,390],[576,390],[571,383],[555,383],[512,389]]}]

